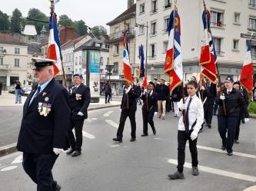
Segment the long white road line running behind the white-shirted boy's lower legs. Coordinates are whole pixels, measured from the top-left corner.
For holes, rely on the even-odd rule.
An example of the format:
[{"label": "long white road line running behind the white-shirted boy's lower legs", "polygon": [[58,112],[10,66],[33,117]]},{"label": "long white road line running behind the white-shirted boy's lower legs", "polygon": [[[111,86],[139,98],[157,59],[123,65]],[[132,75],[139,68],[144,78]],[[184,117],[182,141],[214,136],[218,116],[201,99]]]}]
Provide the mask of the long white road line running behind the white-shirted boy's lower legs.
[{"label": "long white road line running behind the white-shirted boy's lower legs", "polygon": [[[178,160],[169,159],[168,163],[177,165]],[[191,168],[191,163],[185,163],[184,167],[185,168]],[[240,174],[240,173],[232,173],[232,172],[229,172],[229,171],[218,170],[218,169],[210,168],[210,167],[207,167],[207,166],[200,166],[200,165],[198,165],[198,169],[199,169],[199,171],[203,171],[203,172],[206,172],[206,173],[218,174],[218,175],[221,175],[221,176],[227,176],[227,177],[231,177],[231,178],[234,178],[234,179],[242,179],[242,180],[253,182],[253,183],[256,182],[256,176],[248,176],[248,175]]]}]

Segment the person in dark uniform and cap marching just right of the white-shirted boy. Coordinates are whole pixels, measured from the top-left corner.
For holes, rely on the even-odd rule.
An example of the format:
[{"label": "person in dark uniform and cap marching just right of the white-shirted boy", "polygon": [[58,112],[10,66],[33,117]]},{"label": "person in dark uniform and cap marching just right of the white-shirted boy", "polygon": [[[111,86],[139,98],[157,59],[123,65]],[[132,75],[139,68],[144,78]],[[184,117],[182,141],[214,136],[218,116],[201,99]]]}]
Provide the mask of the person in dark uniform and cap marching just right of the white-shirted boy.
[{"label": "person in dark uniform and cap marching just right of the white-shirted boy", "polygon": [[[228,156],[233,155],[234,134],[238,124],[239,110],[245,110],[245,121],[248,122],[248,110],[241,91],[233,88],[233,78],[228,76],[224,81],[224,94],[218,93],[216,104],[219,104],[218,132],[222,139],[222,150],[227,150]],[[223,104],[224,102],[224,104]],[[226,133],[228,131],[228,137]]]}]

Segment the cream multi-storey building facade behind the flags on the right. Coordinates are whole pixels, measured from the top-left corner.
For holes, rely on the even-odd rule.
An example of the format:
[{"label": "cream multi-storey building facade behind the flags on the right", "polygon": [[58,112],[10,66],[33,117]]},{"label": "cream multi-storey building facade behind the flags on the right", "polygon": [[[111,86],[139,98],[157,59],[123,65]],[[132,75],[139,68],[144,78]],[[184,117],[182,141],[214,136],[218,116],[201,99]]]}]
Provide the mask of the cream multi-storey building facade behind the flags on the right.
[{"label": "cream multi-storey building facade behind the flags on the right", "polygon": [[[221,78],[231,74],[234,80],[238,80],[248,41],[251,38],[251,30],[256,29],[255,1],[205,0],[205,3],[211,12],[211,32],[218,54]],[[136,28],[136,48],[143,44],[145,51],[148,50],[148,80],[154,77],[168,80],[168,76],[163,74],[163,68],[171,11],[171,0],[137,0],[136,22],[140,26]],[[186,0],[178,1],[185,80],[189,80],[192,75],[199,76],[201,72],[198,62],[204,35],[201,21],[203,11],[204,5],[201,0],[194,0],[193,3]],[[147,23],[148,48],[146,47]],[[252,40],[252,45],[253,60],[256,61],[256,36]],[[136,63],[139,63],[138,51],[135,52]]]}]

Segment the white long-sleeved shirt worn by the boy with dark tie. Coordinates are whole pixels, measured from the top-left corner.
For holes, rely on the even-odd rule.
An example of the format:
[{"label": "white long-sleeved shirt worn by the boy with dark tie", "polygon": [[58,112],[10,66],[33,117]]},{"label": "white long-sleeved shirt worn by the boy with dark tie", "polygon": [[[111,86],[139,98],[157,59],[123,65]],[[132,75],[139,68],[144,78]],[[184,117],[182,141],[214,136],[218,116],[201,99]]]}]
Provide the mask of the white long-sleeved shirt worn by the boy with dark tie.
[{"label": "white long-sleeved shirt worn by the boy with dark tie", "polygon": [[[187,107],[188,107],[189,99],[190,99],[190,96],[185,97],[185,104]],[[180,107],[181,104],[183,104],[182,99],[178,103],[178,108]],[[185,130],[182,111],[178,110],[177,115],[178,117],[180,117],[180,120],[178,121],[178,130]],[[194,128],[193,128],[194,130],[199,131],[201,129],[201,124],[204,123],[204,107],[201,100],[196,96],[196,94],[192,96],[191,104],[188,110],[188,120],[189,120],[189,130],[191,130],[191,127],[195,122],[195,120],[197,120],[197,122],[194,125]]]}]

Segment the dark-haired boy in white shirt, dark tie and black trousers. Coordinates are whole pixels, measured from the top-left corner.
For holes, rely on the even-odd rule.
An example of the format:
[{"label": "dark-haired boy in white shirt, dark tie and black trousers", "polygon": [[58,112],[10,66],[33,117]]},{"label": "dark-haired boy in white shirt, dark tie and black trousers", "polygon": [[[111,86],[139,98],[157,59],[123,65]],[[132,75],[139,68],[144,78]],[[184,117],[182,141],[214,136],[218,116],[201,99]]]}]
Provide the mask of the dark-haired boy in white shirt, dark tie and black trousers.
[{"label": "dark-haired boy in white shirt, dark tie and black trousers", "polygon": [[[178,103],[177,115],[180,117],[178,122],[178,171],[169,174],[171,179],[184,179],[183,166],[185,163],[185,147],[186,142],[189,142],[189,150],[192,158],[192,174],[198,176],[198,132],[201,129],[201,124],[204,122],[204,107],[201,100],[197,97],[196,91],[198,83],[189,81],[187,85],[188,97],[185,98],[185,104],[182,99]],[[185,119],[183,117],[185,110]],[[184,120],[187,126],[185,127]]]}]

